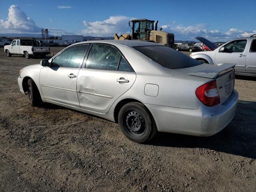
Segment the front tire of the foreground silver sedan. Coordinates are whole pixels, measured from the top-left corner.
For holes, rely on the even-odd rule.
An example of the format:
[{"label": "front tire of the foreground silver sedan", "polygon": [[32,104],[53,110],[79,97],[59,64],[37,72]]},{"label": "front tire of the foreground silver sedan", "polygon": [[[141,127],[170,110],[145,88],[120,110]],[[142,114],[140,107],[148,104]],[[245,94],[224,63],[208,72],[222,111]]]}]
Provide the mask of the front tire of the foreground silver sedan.
[{"label": "front tire of the foreground silver sedan", "polygon": [[28,98],[32,107],[40,106],[42,99],[35,82],[32,79],[28,80]]}]

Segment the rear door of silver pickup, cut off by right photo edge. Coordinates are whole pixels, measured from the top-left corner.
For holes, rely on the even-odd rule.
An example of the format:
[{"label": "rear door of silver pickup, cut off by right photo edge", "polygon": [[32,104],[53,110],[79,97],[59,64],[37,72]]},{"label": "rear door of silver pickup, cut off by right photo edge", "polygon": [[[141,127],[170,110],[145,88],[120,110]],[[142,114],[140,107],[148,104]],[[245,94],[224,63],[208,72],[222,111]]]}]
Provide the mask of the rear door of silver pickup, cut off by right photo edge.
[{"label": "rear door of silver pickup, cut off by right photo edge", "polygon": [[251,39],[246,56],[246,71],[256,73],[256,39]]}]

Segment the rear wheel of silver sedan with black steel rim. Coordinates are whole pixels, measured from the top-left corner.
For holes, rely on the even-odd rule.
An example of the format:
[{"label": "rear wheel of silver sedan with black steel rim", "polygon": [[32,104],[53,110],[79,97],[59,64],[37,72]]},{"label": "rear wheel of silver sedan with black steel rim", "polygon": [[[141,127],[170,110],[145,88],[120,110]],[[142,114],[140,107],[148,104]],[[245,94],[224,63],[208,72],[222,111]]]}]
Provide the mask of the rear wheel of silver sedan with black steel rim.
[{"label": "rear wheel of silver sedan with black steel rim", "polygon": [[118,124],[122,133],[130,140],[144,143],[156,133],[156,123],[150,111],[138,102],[125,104],[118,113]]}]

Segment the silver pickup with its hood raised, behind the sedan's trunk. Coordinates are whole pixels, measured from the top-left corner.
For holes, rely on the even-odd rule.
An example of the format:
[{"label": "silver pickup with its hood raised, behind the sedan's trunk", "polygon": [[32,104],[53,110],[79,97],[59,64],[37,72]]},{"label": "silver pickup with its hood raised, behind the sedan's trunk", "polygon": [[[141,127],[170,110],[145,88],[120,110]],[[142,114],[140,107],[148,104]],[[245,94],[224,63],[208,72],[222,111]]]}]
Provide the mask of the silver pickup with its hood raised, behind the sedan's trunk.
[{"label": "silver pickup with its hood raised, behind the sedan's trunk", "polygon": [[233,63],[236,74],[256,76],[256,35],[237,38],[219,47],[205,38],[197,39],[214,51],[192,53],[192,58],[208,64]]}]

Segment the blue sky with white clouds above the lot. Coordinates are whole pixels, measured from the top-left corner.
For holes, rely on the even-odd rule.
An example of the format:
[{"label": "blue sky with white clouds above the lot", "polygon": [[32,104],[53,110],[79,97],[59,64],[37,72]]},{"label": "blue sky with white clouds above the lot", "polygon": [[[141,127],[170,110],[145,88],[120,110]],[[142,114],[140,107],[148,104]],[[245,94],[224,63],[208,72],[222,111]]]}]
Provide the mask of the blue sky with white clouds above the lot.
[{"label": "blue sky with white clouds above the lot", "polygon": [[128,32],[132,18],[147,18],[159,20],[176,40],[229,40],[256,33],[255,8],[255,0],[1,0],[0,33],[48,28],[53,35],[112,36]]}]

